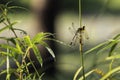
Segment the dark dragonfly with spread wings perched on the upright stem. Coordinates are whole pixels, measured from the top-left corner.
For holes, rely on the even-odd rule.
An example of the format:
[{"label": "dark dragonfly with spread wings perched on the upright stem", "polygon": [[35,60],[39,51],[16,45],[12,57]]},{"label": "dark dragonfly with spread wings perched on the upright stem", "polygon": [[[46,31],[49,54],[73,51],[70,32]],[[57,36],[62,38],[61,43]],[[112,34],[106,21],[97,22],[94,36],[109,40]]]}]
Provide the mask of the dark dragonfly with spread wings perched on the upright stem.
[{"label": "dark dragonfly with spread wings perched on the upright stem", "polygon": [[83,37],[85,37],[86,39],[89,39],[87,31],[85,30],[85,26],[75,29],[74,23],[72,23],[72,28],[74,30],[74,36],[72,38],[70,45],[75,45],[77,41],[79,41],[80,44],[83,44]]}]

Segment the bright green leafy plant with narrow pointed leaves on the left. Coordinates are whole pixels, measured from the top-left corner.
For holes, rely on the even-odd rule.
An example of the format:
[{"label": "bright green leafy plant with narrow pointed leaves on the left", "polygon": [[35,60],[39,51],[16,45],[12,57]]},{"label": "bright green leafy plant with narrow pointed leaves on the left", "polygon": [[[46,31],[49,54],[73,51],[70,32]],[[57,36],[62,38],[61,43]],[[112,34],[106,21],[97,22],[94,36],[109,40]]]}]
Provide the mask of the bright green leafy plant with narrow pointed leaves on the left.
[{"label": "bright green leafy plant with narrow pointed leaves on the left", "polygon": [[[14,25],[17,22],[11,22],[8,17],[8,12],[11,9],[22,7],[8,5],[9,3],[5,5],[0,4],[0,24],[3,24],[2,28],[0,28],[0,33],[10,30],[13,32],[14,37],[0,37],[1,41],[6,42],[0,43],[0,55],[4,57],[0,63],[0,66],[2,66],[4,63],[7,64],[7,68],[0,72],[0,76],[7,74],[6,80],[10,80],[11,75],[15,75],[16,79],[19,80],[36,80],[36,78],[41,80],[44,73],[39,74],[38,70],[34,66],[34,61],[32,61],[30,58],[30,51],[33,50],[35,57],[39,61],[39,64],[41,64],[41,67],[43,60],[38,45],[44,46],[50,52],[53,58],[55,58],[54,52],[46,43],[46,41],[52,40],[50,37],[53,36],[53,34],[41,32],[31,38],[26,31],[14,28]],[[19,35],[16,34],[16,31],[22,32],[24,36],[19,37]],[[26,62],[26,59],[29,59],[30,62]],[[11,68],[10,60],[14,61],[14,64],[16,64],[17,68]],[[29,66],[33,66],[35,73],[29,72]]]}]

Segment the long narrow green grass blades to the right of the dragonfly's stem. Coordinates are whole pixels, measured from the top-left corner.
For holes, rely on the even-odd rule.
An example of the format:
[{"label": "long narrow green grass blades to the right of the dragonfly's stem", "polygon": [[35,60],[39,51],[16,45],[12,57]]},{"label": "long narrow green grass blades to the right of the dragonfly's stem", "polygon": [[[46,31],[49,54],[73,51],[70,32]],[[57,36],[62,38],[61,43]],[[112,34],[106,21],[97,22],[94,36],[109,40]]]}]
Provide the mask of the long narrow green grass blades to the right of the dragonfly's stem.
[{"label": "long narrow green grass blades to the right of the dragonfly's stem", "polygon": [[[115,61],[119,61],[120,60],[120,54],[119,54],[119,48],[120,48],[120,34],[116,35],[115,37],[113,37],[112,39],[105,41],[101,44],[98,44],[97,46],[91,48],[90,50],[87,50],[86,52],[84,52],[84,55],[89,55],[89,54],[93,54],[94,55],[100,55],[100,54],[108,54],[106,56],[106,58],[102,58],[105,62],[107,62],[109,70],[108,72],[104,73],[101,70],[96,70],[96,69],[92,69],[91,71],[89,71],[89,75],[92,75],[93,72],[95,72],[96,74],[100,74],[100,80],[112,80],[112,79],[118,79],[117,75],[120,71],[120,65],[119,63],[114,63]],[[108,60],[110,61],[110,63],[108,62]],[[116,66],[115,66],[116,65]],[[75,78],[78,77],[78,74],[81,73],[81,70],[77,70],[76,74],[75,74]],[[85,73],[85,75],[88,75],[88,73]],[[114,76],[113,76],[114,75]],[[87,77],[87,76],[85,76]],[[79,78],[79,80],[82,80],[83,77],[81,76]],[[76,79],[74,79],[76,80]]]}]

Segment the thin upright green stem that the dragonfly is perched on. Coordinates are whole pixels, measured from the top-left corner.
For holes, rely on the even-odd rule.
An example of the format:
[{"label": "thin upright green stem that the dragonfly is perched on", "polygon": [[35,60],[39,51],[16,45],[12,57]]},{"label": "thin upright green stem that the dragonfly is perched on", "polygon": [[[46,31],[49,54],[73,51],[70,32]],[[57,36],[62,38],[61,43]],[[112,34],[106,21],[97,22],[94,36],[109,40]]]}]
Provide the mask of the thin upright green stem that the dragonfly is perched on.
[{"label": "thin upright green stem that the dragonfly is perched on", "polygon": [[[79,26],[82,28],[82,1],[79,0]],[[80,61],[81,65],[83,67],[82,69],[82,75],[83,75],[83,80],[85,80],[85,70],[84,70],[84,56],[83,56],[83,36],[82,36],[82,30],[80,30],[80,44],[79,44],[79,50],[80,50]]]}]

